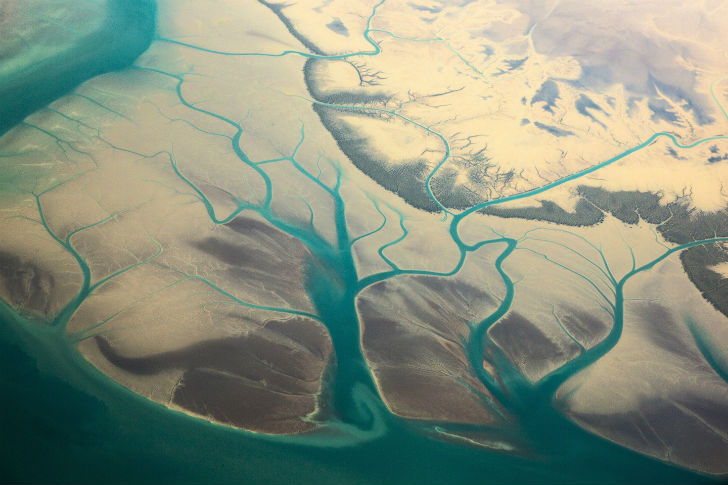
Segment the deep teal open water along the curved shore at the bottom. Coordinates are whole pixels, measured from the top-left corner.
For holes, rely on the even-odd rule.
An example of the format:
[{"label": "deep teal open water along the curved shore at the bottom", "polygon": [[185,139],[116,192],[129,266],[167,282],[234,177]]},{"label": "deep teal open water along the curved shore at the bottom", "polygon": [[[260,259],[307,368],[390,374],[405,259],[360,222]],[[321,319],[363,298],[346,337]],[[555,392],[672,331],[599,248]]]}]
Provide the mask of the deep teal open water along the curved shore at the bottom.
[{"label": "deep teal open water along the curved shore at the bottom", "polygon": [[[101,375],[53,327],[0,305],[2,473],[53,483],[710,483],[534,410],[548,455],[432,439],[381,416],[367,430],[272,437],[214,425]],[[540,411],[536,412],[536,411]],[[716,482],[717,483],[717,482]]]}]

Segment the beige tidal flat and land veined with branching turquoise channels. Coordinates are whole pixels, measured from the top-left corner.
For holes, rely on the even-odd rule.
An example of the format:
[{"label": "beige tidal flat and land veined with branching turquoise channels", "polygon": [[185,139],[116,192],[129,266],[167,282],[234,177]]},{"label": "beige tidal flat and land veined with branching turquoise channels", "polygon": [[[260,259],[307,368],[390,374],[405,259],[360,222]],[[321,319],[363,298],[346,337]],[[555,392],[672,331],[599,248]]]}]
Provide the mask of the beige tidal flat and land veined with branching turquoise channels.
[{"label": "beige tidal flat and land veined with branching turquoise channels", "polygon": [[[0,5],[3,87],[99,28],[36,3]],[[161,0],[131,67],[0,138],[0,296],[247,430],[543,456],[567,419],[727,474],[726,19]]]}]

